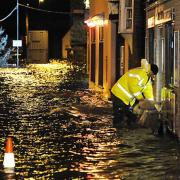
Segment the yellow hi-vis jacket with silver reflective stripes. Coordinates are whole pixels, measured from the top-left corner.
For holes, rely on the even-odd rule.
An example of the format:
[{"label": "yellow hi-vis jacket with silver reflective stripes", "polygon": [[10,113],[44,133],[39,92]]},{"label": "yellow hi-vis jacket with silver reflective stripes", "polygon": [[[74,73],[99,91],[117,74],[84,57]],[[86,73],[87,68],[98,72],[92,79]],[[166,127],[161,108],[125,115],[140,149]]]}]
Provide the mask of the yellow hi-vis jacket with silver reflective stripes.
[{"label": "yellow hi-vis jacket with silver reflective stripes", "polygon": [[142,67],[126,72],[112,87],[111,92],[126,105],[133,106],[136,99],[154,100],[151,79]]}]

